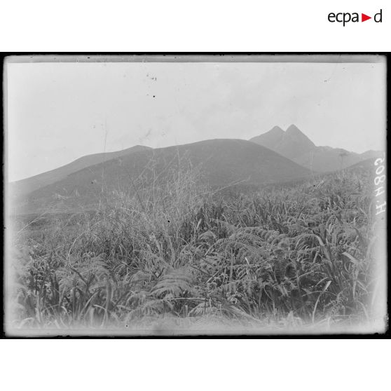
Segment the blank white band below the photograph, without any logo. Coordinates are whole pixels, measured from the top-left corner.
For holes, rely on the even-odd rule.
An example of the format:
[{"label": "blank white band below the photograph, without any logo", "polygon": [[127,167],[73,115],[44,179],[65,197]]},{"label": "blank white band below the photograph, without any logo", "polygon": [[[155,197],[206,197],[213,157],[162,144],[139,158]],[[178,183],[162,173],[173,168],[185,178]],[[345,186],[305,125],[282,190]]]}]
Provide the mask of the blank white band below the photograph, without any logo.
[{"label": "blank white band below the photograph, without any logo", "polygon": [[[388,342],[388,341],[387,341]],[[372,340],[1,342],[3,390],[389,390]]]}]

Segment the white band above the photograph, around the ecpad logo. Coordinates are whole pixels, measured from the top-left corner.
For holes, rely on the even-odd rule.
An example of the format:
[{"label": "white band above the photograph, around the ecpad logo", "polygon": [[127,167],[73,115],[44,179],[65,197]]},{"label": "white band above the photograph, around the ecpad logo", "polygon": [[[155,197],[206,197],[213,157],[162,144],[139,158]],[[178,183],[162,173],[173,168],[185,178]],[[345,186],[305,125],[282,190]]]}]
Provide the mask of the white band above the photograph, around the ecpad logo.
[{"label": "white band above the photograph, around the ecpad logo", "polygon": [[[8,0],[1,50],[386,51],[390,0]],[[383,9],[383,22],[330,23]]]}]

